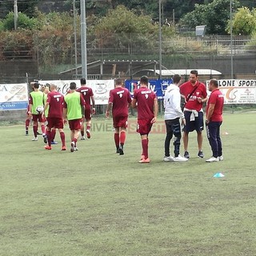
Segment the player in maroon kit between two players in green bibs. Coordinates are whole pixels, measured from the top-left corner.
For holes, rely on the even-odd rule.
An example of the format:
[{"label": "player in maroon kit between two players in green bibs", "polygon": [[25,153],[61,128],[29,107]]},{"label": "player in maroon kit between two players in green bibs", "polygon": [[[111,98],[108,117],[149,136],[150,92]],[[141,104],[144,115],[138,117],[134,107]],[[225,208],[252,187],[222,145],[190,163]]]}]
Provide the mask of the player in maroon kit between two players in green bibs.
[{"label": "player in maroon kit between two players in green bibs", "polygon": [[[48,111],[47,114],[47,130],[46,136],[48,138],[48,145],[45,146],[46,150],[51,150],[52,129],[58,129],[62,140],[62,150],[66,150],[65,134],[63,130],[63,101],[64,96],[58,93],[57,86],[50,85],[50,93],[47,94],[46,105],[44,106],[43,114]],[[48,109],[49,107],[49,109]]]}]

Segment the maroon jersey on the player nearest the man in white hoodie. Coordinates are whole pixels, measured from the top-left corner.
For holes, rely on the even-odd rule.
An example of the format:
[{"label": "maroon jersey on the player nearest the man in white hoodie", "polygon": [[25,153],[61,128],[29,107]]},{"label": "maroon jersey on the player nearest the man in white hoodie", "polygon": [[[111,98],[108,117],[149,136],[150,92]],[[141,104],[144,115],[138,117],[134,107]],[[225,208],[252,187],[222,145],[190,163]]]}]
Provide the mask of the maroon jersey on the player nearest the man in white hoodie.
[{"label": "maroon jersey on the player nearest the man in white hoodie", "polygon": [[138,119],[154,118],[154,99],[157,98],[154,91],[140,87],[134,90],[134,98],[137,100]]}]

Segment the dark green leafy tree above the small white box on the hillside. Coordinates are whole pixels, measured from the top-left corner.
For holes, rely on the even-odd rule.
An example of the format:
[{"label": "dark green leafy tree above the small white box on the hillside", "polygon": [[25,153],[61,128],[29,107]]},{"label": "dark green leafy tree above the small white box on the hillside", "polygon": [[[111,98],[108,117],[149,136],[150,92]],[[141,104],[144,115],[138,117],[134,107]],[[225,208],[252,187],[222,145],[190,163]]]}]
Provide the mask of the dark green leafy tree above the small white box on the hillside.
[{"label": "dark green leafy tree above the small white box on the hillside", "polygon": [[[238,1],[234,0],[234,10]],[[196,26],[206,25],[206,34],[226,34],[226,26],[230,20],[230,0],[214,0],[209,4],[195,5],[195,10],[181,19],[180,25],[195,29]]]}]

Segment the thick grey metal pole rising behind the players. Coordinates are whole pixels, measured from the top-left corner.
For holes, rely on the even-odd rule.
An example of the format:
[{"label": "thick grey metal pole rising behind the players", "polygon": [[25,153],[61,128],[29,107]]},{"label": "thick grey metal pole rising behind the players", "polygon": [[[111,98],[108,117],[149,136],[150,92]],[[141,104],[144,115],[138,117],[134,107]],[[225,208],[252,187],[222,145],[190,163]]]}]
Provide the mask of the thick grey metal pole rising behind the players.
[{"label": "thick grey metal pole rising behind the players", "polygon": [[87,79],[86,0],[80,0],[80,4],[81,4],[82,78]]}]

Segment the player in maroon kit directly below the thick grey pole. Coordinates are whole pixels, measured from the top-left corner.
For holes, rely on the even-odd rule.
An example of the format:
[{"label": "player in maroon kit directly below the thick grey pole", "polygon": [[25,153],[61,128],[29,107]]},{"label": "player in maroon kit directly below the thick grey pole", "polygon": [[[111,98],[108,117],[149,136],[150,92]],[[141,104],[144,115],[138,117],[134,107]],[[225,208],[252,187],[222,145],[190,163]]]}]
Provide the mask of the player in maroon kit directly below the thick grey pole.
[{"label": "player in maroon kit directly below the thick grey pole", "polygon": [[[86,102],[85,106],[85,118],[82,118],[82,126],[81,126],[81,135],[82,140],[85,139],[85,125],[84,122],[86,121],[86,135],[87,138],[90,138],[90,125],[91,125],[91,114],[95,114],[95,101],[94,101],[94,92],[93,90],[86,86],[86,79],[80,79],[81,87],[77,89],[77,91],[82,94],[82,98]],[[92,109],[91,105],[92,104]]]}]

